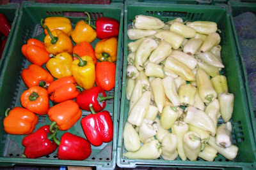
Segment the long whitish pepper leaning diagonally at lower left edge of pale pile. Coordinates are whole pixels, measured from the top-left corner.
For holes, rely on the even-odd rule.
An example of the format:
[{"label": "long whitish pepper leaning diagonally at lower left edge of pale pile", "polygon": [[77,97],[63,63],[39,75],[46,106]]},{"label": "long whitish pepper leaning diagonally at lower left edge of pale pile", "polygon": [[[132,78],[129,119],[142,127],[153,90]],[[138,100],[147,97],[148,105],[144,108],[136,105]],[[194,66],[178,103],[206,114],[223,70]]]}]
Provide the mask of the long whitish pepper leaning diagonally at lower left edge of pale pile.
[{"label": "long whitish pepper leaning diagonally at lower left edge of pale pile", "polygon": [[140,99],[134,104],[128,115],[127,121],[136,126],[140,126],[147,113],[148,106],[150,104],[150,91],[145,91],[141,95]]}]

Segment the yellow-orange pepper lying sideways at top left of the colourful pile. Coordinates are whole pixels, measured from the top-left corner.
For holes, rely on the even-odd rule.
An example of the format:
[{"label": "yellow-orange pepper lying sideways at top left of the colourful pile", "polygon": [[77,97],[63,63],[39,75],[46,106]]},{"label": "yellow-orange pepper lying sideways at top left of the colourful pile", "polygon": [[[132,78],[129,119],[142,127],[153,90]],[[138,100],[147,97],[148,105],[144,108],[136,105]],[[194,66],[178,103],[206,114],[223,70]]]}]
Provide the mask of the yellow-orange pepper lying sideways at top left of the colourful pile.
[{"label": "yellow-orange pepper lying sideways at top left of the colourful pile", "polygon": [[[43,20],[42,20],[43,21]],[[49,27],[50,31],[54,31],[54,29],[60,29],[65,32],[68,36],[71,35],[73,31],[71,22],[68,18],[65,17],[48,17],[44,20],[44,25]],[[45,35],[48,35],[47,29],[44,29]]]}]

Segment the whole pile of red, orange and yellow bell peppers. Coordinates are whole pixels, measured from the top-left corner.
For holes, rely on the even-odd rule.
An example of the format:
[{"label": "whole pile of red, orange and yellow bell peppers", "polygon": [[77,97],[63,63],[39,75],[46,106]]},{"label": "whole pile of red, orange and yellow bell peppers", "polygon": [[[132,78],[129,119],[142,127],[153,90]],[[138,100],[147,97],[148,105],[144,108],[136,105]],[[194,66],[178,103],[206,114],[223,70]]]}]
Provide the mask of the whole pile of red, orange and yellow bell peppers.
[{"label": "whole pile of red, orange and yellow bell peppers", "polygon": [[[27,158],[58,149],[59,159],[84,160],[91,145],[113,139],[113,120],[104,108],[114,98],[106,91],[115,87],[119,22],[101,17],[95,27],[85,14],[74,30],[66,17],[42,18],[44,41],[30,38],[20,49],[30,63],[21,72],[28,89],[20,96],[21,106],[6,110],[3,124],[9,134],[27,135],[22,140]],[[91,114],[81,118],[83,111]],[[38,115],[47,115],[52,123],[35,131]],[[86,138],[68,132],[74,124],[81,124]],[[65,131],[60,139],[58,131]]]}]

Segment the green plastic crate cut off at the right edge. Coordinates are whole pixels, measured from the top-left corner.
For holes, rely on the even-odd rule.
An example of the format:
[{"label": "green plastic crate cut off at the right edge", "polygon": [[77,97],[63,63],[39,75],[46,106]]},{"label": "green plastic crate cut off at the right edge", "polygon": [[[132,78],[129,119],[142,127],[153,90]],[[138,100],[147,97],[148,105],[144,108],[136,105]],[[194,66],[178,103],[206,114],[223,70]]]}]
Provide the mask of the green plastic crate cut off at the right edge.
[{"label": "green plastic crate cut off at the right edge", "polygon": [[256,139],[256,120],[255,120],[256,110],[253,110],[252,100],[251,100],[251,95],[250,95],[250,89],[249,89],[249,85],[248,85],[248,74],[246,72],[246,67],[245,67],[244,62],[243,62],[243,54],[241,52],[240,43],[239,43],[239,39],[238,39],[238,36],[237,36],[237,31],[236,31],[236,26],[234,24],[234,17],[237,17],[241,13],[244,13],[246,11],[250,11],[250,12],[255,13],[255,15],[256,15],[256,1],[254,1],[255,3],[242,3],[242,2],[243,1],[241,1],[241,2],[230,1],[230,2],[228,2],[228,6],[230,8],[231,24],[232,24],[232,29],[234,30],[233,32],[234,32],[234,37],[236,39],[237,50],[238,50],[238,53],[239,53],[239,59],[241,60],[241,65],[243,67],[244,85],[246,87],[246,92],[247,92],[247,96],[248,96],[248,103],[249,103],[250,112],[251,112],[252,126],[253,126],[254,136],[255,136],[255,139]]}]

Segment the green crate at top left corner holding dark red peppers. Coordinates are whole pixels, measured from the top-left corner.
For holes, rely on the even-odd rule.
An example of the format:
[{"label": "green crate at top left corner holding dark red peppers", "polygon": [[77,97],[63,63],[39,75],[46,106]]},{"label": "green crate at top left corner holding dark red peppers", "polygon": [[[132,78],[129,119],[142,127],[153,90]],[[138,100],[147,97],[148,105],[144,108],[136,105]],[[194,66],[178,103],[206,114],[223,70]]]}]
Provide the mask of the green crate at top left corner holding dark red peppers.
[{"label": "green crate at top left corner holding dark red peppers", "polygon": [[11,39],[13,37],[13,32],[15,29],[18,15],[19,15],[19,8],[20,8],[20,4],[18,4],[18,3],[9,3],[9,4],[0,5],[0,13],[3,13],[4,15],[6,15],[7,20],[10,22],[10,24],[12,26],[10,34],[6,41],[6,45],[4,46],[3,55],[0,60],[0,73],[3,70],[3,62],[5,60],[5,54],[9,50],[10,41],[12,41]]}]

